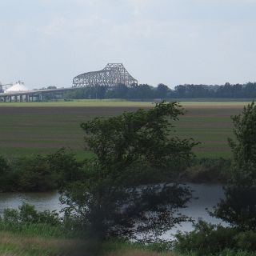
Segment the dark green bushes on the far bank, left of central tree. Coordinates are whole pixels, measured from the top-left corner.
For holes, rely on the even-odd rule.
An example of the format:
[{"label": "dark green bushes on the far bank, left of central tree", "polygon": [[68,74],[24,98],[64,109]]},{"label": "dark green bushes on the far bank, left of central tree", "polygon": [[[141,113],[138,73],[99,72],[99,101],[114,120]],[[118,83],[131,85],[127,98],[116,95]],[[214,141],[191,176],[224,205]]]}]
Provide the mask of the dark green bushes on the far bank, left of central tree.
[{"label": "dark green bushes on the far bank, left of central tree", "polygon": [[0,192],[56,190],[66,173],[74,173],[81,165],[65,149],[12,160],[0,156]]}]

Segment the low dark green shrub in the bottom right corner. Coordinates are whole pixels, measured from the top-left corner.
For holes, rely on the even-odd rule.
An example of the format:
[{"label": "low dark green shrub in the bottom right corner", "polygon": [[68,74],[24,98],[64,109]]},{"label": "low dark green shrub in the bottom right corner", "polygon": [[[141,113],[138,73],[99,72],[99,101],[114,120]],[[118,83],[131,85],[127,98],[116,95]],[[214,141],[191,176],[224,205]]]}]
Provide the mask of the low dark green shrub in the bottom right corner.
[{"label": "low dark green shrub in the bottom right corner", "polygon": [[[247,255],[256,252],[256,232],[240,231],[232,227],[212,225],[199,221],[194,230],[178,233],[174,244],[181,253],[193,252],[195,255]],[[239,253],[238,253],[239,252]],[[249,255],[249,254],[248,254]]]}]

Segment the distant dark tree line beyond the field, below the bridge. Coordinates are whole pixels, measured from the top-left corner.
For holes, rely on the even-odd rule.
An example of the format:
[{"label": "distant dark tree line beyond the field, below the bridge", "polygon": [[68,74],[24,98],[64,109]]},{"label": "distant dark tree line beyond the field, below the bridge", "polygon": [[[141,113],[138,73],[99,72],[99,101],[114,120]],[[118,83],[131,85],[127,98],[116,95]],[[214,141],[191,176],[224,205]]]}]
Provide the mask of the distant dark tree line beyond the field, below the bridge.
[{"label": "distant dark tree line beyond the field, below the bridge", "polygon": [[66,99],[82,98],[124,98],[124,99],[154,99],[154,98],[255,98],[256,82],[225,85],[194,85],[185,84],[170,89],[160,83],[157,87],[148,84],[127,87],[119,84],[115,87],[86,86],[65,94]]}]

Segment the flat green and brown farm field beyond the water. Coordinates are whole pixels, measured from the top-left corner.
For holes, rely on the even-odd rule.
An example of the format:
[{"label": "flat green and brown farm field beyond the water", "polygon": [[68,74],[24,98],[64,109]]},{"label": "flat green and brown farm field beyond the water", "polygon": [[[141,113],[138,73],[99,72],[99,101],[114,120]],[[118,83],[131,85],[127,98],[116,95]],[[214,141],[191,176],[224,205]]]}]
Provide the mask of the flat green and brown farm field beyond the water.
[{"label": "flat green and brown farm field beyond the water", "polygon": [[[176,122],[177,134],[202,142],[198,157],[230,157],[227,137],[232,136],[230,115],[241,113],[247,102],[182,102],[186,115]],[[70,147],[79,158],[85,154],[79,124],[94,117],[109,117],[151,102],[96,101],[12,102],[0,104],[0,154],[7,157],[49,153]]]}]

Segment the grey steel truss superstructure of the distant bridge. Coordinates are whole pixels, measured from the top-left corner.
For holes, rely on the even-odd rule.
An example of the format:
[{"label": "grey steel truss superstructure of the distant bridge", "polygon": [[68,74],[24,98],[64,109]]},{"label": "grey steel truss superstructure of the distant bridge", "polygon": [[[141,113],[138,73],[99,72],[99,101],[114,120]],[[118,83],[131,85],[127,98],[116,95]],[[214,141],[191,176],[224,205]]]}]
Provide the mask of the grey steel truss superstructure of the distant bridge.
[{"label": "grey steel truss superstructure of the distant bridge", "polygon": [[103,70],[79,74],[73,79],[74,87],[82,86],[108,86],[113,87],[118,84],[131,86],[138,84],[122,65],[122,63],[108,63]]}]

